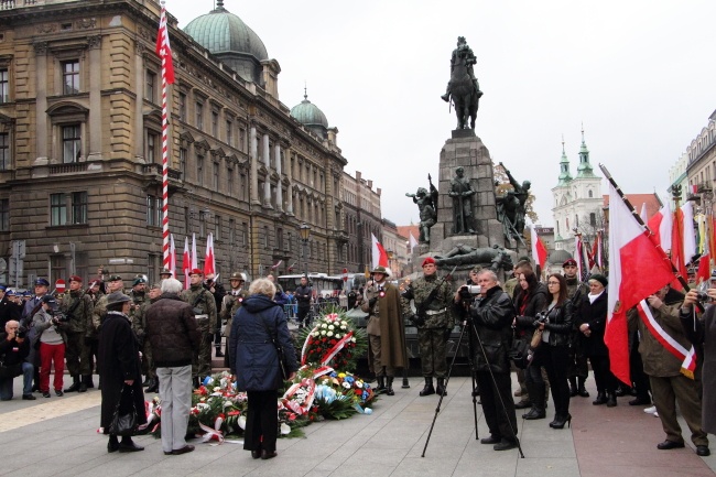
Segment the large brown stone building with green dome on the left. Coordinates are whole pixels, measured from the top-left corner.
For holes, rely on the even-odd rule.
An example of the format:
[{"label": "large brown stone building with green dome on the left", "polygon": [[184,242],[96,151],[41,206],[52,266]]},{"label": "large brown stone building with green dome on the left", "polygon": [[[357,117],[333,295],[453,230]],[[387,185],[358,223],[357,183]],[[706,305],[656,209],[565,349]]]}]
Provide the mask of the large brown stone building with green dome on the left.
[{"label": "large brown stone building with green dome on the left", "polygon": [[[281,262],[280,274],[302,261],[305,223],[308,268],[338,273],[349,241],[337,129],[302,122],[301,108],[279,101],[278,61],[223,1],[185,31],[169,13],[176,74],[167,90],[169,210],[177,254],[196,235],[203,258],[211,232],[223,277],[256,277]],[[12,268],[3,282],[87,279],[99,265],[158,278],[159,15],[154,0],[18,1],[0,10],[0,257]],[[379,224],[380,207],[364,206]],[[379,229],[371,221],[368,230]]]}]

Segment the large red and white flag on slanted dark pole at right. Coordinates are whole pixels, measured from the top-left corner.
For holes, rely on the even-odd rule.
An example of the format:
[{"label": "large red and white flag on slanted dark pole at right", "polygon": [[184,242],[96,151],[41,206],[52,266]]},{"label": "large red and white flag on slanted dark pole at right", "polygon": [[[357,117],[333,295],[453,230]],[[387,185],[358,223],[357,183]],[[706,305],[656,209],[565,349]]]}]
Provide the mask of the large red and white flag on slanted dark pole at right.
[{"label": "large red and white flag on slanted dark pole at right", "polygon": [[627,204],[609,183],[609,289],[604,342],[609,348],[611,372],[630,383],[627,310],[670,283],[674,274],[666,254]]}]

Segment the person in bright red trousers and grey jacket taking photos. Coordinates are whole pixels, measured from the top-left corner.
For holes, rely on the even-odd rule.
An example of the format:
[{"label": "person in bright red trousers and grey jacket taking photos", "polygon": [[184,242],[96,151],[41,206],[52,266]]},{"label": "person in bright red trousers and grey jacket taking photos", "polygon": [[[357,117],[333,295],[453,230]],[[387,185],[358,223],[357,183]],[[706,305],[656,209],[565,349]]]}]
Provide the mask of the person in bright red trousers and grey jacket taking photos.
[{"label": "person in bright red trousers and grey jacket taking photos", "polygon": [[65,338],[61,330],[67,317],[57,310],[57,301],[52,295],[42,297],[42,307],[32,317],[40,342],[40,392],[50,398],[50,369],[55,366],[53,387],[57,397],[64,395],[63,373],[65,372]]}]

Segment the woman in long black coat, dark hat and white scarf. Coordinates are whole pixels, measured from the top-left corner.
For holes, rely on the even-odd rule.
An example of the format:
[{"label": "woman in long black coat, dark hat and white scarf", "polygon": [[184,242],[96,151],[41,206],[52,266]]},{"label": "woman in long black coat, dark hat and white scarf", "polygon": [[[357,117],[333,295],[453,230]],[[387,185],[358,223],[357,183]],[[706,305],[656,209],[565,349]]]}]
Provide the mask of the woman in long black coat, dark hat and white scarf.
[{"label": "woman in long black coat, dark hat and white scarf", "polygon": [[589,277],[589,294],[582,299],[575,326],[579,330],[579,345],[592,362],[594,380],[597,383],[597,399],[594,405],[617,405],[617,378],[609,370],[609,349],[604,343],[607,326],[607,279],[601,274]]}]

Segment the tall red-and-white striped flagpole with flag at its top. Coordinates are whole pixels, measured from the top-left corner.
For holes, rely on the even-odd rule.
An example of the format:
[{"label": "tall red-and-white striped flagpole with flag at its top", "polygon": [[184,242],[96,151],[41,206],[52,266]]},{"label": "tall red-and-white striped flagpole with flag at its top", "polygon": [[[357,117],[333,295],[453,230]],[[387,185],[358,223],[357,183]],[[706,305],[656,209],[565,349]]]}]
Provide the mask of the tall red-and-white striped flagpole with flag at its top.
[{"label": "tall red-and-white striped flagpole with flag at its top", "polygon": [[169,121],[166,106],[166,84],[174,83],[174,64],[172,63],[172,48],[169,44],[169,29],[166,28],[166,9],[162,1],[162,13],[159,19],[159,34],[156,35],[156,54],[162,58],[162,251],[164,253],[164,268],[171,269],[169,243]]}]

